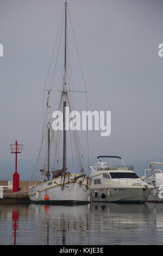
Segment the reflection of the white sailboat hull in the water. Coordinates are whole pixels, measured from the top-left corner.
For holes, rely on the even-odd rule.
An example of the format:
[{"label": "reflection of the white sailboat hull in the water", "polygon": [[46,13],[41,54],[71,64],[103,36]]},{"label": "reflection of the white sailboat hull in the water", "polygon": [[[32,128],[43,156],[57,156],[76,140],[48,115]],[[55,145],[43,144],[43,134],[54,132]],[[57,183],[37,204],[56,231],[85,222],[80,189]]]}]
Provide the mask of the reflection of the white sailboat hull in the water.
[{"label": "reflection of the white sailboat hull in the water", "polygon": [[31,205],[40,219],[41,244],[80,244],[83,231],[89,229],[89,207],[90,205]]}]

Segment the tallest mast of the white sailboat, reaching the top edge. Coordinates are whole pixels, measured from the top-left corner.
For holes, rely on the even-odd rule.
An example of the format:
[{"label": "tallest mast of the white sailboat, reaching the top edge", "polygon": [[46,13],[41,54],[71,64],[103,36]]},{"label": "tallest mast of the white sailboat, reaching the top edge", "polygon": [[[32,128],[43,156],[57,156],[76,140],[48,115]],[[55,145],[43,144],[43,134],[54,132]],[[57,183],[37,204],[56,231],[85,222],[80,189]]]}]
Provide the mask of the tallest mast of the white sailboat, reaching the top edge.
[{"label": "tallest mast of the white sailboat, reaching the top edge", "polygon": [[67,90],[66,90],[66,44],[67,44],[67,2],[65,1],[65,63],[64,63],[64,86],[62,95],[64,96],[63,102],[63,171],[66,172],[66,115],[65,115],[65,107],[66,107],[66,99],[67,99]]}]

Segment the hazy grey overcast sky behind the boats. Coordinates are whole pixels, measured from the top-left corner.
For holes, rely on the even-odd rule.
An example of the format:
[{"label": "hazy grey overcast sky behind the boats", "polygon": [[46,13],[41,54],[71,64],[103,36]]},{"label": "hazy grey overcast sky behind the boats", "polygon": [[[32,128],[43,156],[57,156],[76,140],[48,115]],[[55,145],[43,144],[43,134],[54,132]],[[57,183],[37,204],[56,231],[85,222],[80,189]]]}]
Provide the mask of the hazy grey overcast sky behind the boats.
[{"label": "hazy grey overcast sky behind the boats", "polygon": [[[89,132],[90,156],[162,161],[163,57],[158,46],[163,43],[163,2],[67,2],[88,107],[111,111],[111,136]],[[9,144],[16,139],[24,144],[21,158],[37,156],[43,88],[63,7],[64,0],[0,0],[0,159],[11,159]],[[86,148],[86,132],[80,135]]]}]

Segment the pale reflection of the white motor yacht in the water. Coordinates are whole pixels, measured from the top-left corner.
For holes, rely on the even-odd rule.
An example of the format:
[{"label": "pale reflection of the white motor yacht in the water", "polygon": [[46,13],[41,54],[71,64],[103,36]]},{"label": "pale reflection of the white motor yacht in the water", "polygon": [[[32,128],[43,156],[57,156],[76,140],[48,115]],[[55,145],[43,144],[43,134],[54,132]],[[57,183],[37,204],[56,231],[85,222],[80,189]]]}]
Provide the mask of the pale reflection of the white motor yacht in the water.
[{"label": "pale reflection of the white motor yacht in the water", "polygon": [[149,216],[151,210],[146,204],[93,204],[91,230],[97,236],[94,241],[109,245],[155,243],[155,237],[148,239],[153,227]]}]

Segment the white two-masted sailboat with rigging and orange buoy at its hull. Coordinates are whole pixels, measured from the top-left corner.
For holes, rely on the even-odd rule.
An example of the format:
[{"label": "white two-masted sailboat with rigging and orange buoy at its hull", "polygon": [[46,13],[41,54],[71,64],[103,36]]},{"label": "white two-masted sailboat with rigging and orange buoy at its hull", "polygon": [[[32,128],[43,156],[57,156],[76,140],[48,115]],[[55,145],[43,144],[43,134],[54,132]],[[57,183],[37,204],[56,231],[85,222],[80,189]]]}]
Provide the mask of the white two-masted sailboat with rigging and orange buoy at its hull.
[{"label": "white two-masted sailboat with rigging and orange buoy at its hull", "polygon": [[[75,172],[74,160],[72,160],[73,172],[67,171],[67,129],[66,129],[66,108],[72,110],[71,100],[68,94],[74,92],[67,89],[67,2],[64,5],[64,75],[61,86],[61,94],[59,99],[58,111],[62,110],[62,124],[63,129],[57,131],[52,129],[51,125],[51,105],[50,105],[50,93],[51,91],[58,91],[48,89],[47,106],[45,115],[45,125],[43,126],[42,141],[39,151],[39,156],[36,161],[34,173],[29,185],[29,198],[30,202],[40,204],[78,204],[90,202],[90,183],[91,179],[86,176],[82,160],[84,159],[82,153],[82,147],[79,141],[78,131],[70,131],[74,136],[74,143],[78,143],[78,146],[74,146],[78,156],[78,163],[80,167],[80,174]],[[46,91],[46,90],[45,90]],[[76,91],[77,92],[77,91]],[[62,138],[60,136],[62,133]],[[45,161],[40,169],[40,180],[36,181],[36,172],[39,169],[39,161],[43,154],[43,142],[46,141]],[[62,141],[62,157],[60,157],[59,144]],[[72,137],[70,136],[70,147],[72,148]],[[53,145],[54,144],[54,145]],[[52,145],[54,150],[52,153]],[[45,149],[45,147],[44,147]],[[68,150],[71,151],[71,150]],[[50,164],[50,159],[54,156],[53,163]],[[74,156],[73,156],[74,157]],[[62,166],[59,168],[59,159],[61,159]],[[54,166],[58,167],[55,168]],[[52,168],[52,169],[51,169]],[[51,172],[50,172],[51,169]],[[52,174],[52,177],[51,177]],[[50,179],[51,178],[51,179]]]}]

